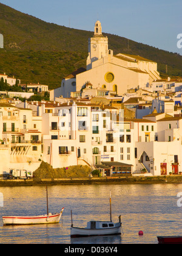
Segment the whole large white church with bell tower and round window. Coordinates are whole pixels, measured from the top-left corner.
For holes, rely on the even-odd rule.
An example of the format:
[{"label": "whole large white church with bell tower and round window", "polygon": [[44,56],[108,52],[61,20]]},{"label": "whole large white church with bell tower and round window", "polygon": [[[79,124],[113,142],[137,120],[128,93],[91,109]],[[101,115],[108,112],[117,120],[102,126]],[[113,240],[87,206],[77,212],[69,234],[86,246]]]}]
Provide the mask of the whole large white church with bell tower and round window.
[{"label": "whole large white church with bell tower and round window", "polygon": [[[108,47],[108,38],[102,34],[100,21],[96,21],[94,35],[89,38],[87,68],[79,68],[61,82],[55,97],[69,98],[71,92],[83,91],[87,85],[121,96],[130,88],[149,87],[153,80],[161,79],[157,63],[139,55],[117,54]],[[75,94],[76,95],[76,94]]]}]

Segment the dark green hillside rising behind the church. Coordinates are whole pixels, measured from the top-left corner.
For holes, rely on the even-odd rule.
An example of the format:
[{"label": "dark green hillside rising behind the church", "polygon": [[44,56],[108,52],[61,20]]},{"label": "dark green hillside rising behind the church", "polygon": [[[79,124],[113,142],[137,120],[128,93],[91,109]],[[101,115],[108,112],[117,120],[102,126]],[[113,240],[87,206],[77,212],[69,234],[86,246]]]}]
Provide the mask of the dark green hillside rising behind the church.
[{"label": "dark green hillside rising behind the church", "polygon": [[[76,68],[86,67],[87,42],[93,36],[93,32],[46,23],[1,3],[0,33],[4,35],[0,73],[14,75],[22,83],[47,84],[50,89],[59,87],[62,77]],[[104,35],[109,38],[114,54],[141,55],[158,62],[161,75],[182,76],[181,55],[132,40],[128,49],[127,38]]]}]

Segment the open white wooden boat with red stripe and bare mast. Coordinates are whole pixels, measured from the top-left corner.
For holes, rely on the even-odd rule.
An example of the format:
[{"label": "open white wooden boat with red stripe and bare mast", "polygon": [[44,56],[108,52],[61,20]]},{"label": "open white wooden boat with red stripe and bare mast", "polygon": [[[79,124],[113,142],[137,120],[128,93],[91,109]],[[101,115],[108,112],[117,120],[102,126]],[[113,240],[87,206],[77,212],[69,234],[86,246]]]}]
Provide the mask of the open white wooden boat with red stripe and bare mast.
[{"label": "open white wooden boat with red stripe and bare mast", "polygon": [[[46,187],[47,190],[47,187]],[[60,213],[49,213],[48,194],[47,194],[47,215],[38,216],[2,216],[4,225],[32,225],[32,224],[53,224],[58,223],[64,207]]]}]

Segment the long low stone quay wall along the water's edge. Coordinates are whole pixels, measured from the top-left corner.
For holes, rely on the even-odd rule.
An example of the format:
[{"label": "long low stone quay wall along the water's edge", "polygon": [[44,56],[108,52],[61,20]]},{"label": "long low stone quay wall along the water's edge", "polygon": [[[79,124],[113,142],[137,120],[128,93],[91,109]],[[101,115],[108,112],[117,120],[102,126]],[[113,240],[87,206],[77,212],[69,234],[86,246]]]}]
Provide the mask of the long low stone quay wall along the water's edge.
[{"label": "long low stone quay wall along the water's edge", "polygon": [[93,184],[154,184],[182,183],[182,176],[138,176],[138,177],[86,177],[66,179],[18,179],[0,180],[0,187],[41,186],[41,185],[93,185]]}]

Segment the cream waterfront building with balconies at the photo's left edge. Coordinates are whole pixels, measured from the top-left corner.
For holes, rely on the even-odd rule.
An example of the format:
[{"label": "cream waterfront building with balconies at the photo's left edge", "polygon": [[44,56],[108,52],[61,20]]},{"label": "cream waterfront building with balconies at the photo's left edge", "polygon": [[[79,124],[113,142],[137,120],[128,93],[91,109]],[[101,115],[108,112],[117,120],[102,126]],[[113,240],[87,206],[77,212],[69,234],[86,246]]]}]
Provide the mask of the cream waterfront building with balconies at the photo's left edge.
[{"label": "cream waterfront building with balconies at the photo's left edge", "polygon": [[0,104],[0,174],[10,168],[35,171],[40,165],[42,120],[29,108]]}]

